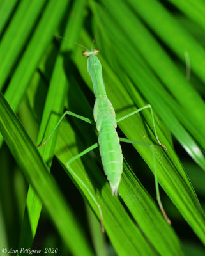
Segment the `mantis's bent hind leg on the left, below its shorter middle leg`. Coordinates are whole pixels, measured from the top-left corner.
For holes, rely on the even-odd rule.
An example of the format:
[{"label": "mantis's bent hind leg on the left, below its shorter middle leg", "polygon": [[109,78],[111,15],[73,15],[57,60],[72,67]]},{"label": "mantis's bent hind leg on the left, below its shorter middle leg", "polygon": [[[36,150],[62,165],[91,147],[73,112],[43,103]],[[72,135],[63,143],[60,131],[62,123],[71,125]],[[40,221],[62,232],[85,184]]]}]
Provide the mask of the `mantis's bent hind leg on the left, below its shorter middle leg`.
[{"label": "mantis's bent hind leg on the left, below its shorter middle leg", "polygon": [[84,184],[84,182],[79,178],[79,176],[73,171],[73,169],[70,167],[70,164],[79,159],[80,157],[84,156],[85,154],[87,154],[88,152],[90,152],[91,150],[95,149],[98,147],[98,143],[93,144],[92,146],[86,148],[86,150],[82,151],[81,153],[77,154],[77,156],[72,157],[70,160],[68,160],[68,162],[66,163],[66,166],[68,168],[68,170],[70,171],[70,173],[72,173],[72,176],[75,177],[76,180],[79,181],[80,185],[82,187],[84,187],[84,189],[86,189],[87,193],[89,194],[89,196],[91,196],[93,202],[96,204],[96,206],[98,207],[99,213],[100,213],[100,224],[101,224],[101,230],[102,232],[105,232],[105,228],[103,227],[103,215],[102,215],[102,211],[100,208],[100,205],[98,204],[98,202],[96,201],[95,197],[93,196],[93,194],[91,193],[91,191],[87,188],[86,184]]}]

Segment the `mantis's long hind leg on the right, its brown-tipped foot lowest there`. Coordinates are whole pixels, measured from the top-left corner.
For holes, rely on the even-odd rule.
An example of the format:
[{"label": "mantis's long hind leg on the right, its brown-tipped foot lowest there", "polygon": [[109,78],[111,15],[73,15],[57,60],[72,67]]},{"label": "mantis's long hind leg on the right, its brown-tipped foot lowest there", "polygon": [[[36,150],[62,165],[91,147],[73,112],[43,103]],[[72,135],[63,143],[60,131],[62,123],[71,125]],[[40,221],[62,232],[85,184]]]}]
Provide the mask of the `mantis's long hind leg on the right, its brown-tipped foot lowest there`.
[{"label": "mantis's long hind leg on the right, its brown-tipped foot lowest there", "polygon": [[158,177],[157,177],[157,172],[156,172],[156,159],[155,159],[155,151],[153,148],[152,144],[147,144],[147,143],[142,143],[139,141],[135,141],[135,140],[128,140],[126,138],[119,138],[119,141],[121,142],[126,142],[126,143],[131,143],[131,144],[137,144],[137,145],[142,145],[142,146],[146,146],[146,147],[150,147],[152,149],[153,152],[153,163],[154,163],[154,176],[155,176],[155,190],[156,190],[156,200],[158,202],[158,205],[160,207],[160,211],[163,214],[163,217],[165,218],[165,220],[167,221],[167,223],[169,225],[171,225],[171,220],[169,220],[169,217],[167,216],[165,210],[163,209],[163,205],[162,205],[162,201],[160,198],[160,189],[159,189],[159,184],[158,184]]}]

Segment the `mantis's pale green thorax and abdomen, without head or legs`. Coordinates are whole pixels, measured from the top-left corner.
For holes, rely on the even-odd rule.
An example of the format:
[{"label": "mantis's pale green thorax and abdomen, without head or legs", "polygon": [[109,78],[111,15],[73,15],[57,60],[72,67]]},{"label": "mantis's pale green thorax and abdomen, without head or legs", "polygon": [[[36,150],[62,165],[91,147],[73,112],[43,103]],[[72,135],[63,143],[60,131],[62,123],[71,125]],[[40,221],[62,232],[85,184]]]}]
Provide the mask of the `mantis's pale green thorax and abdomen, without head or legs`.
[{"label": "mantis's pale green thorax and abdomen, without head or legs", "polygon": [[95,55],[88,57],[87,70],[91,76],[96,97],[93,115],[99,132],[98,143],[103,169],[109,180],[112,195],[117,195],[123,172],[123,154],[116,132],[116,113],[107,98],[102,78],[102,65]]}]

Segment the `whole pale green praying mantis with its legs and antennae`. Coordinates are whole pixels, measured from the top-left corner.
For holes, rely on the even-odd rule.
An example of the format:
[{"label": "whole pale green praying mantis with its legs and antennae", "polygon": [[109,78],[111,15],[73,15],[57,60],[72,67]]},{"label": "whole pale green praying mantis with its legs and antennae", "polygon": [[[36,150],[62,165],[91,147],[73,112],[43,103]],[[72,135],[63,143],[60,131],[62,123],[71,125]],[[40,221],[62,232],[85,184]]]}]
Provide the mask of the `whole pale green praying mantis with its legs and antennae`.
[{"label": "whole pale green praying mantis with its legs and antennae", "polygon": [[[61,36],[59,36],[59,37],[61,37]],[[66,39],[66,38],[63,38],[63,39]],[[75,43],[75,42],[73,42],[73,43]],[[77,44],[77,43],[75,43],[75,44]],[[84,47],[83,45],[80,45],[80,46]],[[84,48],[86,48],[86,47],[84,47]],[[93,150],[94,148],[99,146],[103,169],[107,176],[107,180],[109,180],[110,188],[112,190],[112,195],[118,195],[118,186],[119,186],[119,182],[121,180],[121,174],[123,172],[123,154],[122,154],[121,145],[120,145],[119,141],[126,142],[126,143],[132,143],[132,144],[145,145],[147,147],[153,147],[153,145],[140,143],[138,141],[128,140],[126,138],[119,138],[118,134],[116,132],[117,123],[121,122],[125,118],[128,118],[136,113],[139,113],[143,109],[147,109],[147,108],[150,108],[150,110],[151,110],[151,116],[152,116],[152,120],[153,120],[153,127],[154,127],[154,133],[155,133],[156,140],[158,141],[158,144],[161,147],[163,147],[165,150],[167,150],[167,148],[164,145],[162,145],[162,143],[160,143],[160,140],[158,139],[158,136],[156,133],[156,127],[155,127],[155,119],[153,116],[153,109],[150,104],[148,104],[142,108],[139,108],[139,109],[133,111],[132,113],[122,116],[121,118],[116,119],[116,113],[114,111],[114,108],[106,95],[105,85],[103,83],[103,77],[102,77],[102,65],[100,63],[100,60],[98,60],[98,58],[96,57],[96,55],[99,52],[100,51],[97,49],[92,49],[89,51],[87,48],[86,48],[86,51],[82,52],[82,55],[87,57],[87,70],[89,72],[89,75],[91,76],[91,80],[93,83],[93,90],[94,90],[94,94],[95,94],[95,98],[96,98],[95,106],[93,109],[93,115],[94,115],[94,121],[96,124],[96,129],[99,133],[98,143],[91,145],[91,147],[88,147],[86,150],[82,151],[77,156],[68,160],[68,162],[66,163],[66,166],[67,166],[68,170],[70,170],[70,172],[72,172],[73,176],[75,176],[75,178],[77,180],[79,180],[80,184],[82,184],[82,186],[84,186],[84,188],[87,190],[87,192],[89,193],[91,198],[93,198],[93,201],[95,202],[95,204],[97,205],[97,207],[100,211],[101,225],[102,225],[102,230],[103,230],[103,223],[102,223],[103,216],[102,216],[102,211],[100,209],[100,205],[98,204],[98,202],[96,202],[95,197],[92,195],[92,193],[89,191],[89,189],[87,189],[84,182],[72,170],[72,168],[70,167],[70,164],[73,161],[75,161],[76,159],[78,159],[79,157],[84,156],[84,154],[87,154],[87,152],[90,152],[91,150]],[[56,127],[54,128],[54,130],[52,131],[50,136],[52,136],[53,132],[56,130],[57,126],[61,123],[61,121],[63,120],[65,115],[75,116],[76,118],[79,118],[80,120],[83,120],[89,124],[94,123],[93,120],[91,120],[89,118],[85,118],[84,116],[77,115],[75,113],[72,113],[71,111],[66,111],[63,114],[63,116],[61,116],[59,122],[57,123]],[[47,140],[44,143],[39,145],[37,148],[45,145],[45,143],[47,143],[47,141],[50,139],[50,136],[49,136],[49,138],[47,138]],[[155,153],[153,152],[153,154],[155,154]],[[154,156],[154,161],[155,161],[155,156]],[[157,179],[157,175],[156,175],[156,166],[155,166],[155,186],[156,186],[156,199],[160,206],[160,210],[162,211],[162,214],[163,214],[165,220],[167,220],[167,223],[171,224],[171,221],[167,217],[167,214],[165,213],[163,206],[162,206],[162,202],[160,200],[158,179]]]}]

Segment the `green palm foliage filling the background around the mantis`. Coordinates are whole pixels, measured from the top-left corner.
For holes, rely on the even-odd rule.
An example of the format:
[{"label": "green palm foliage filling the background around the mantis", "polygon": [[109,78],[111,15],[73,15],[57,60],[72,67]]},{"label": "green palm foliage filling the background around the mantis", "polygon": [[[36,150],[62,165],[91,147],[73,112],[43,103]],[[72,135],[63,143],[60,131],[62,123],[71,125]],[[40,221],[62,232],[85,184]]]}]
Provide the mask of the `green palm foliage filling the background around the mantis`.
[{"label": "green palm foliage filling the background around the mantis", "polygon": [[[197,195],[203,203],[204,2],[8,2],[0,4],[1,248],[58,248],[61,255],[82,250],[84,255],[202,255],[205,217]],[[72,163],[86,187],[66,168],[68,159],[96,143],[95,126],[65,118],[45,146],[34,147],[48,138],[65,109],[93,118],[95,97],[83,48],[57,36],[89,49],[95,35],[117,118],[153,106],[167,152],[157,144],[149,109],[119,122],[118,133],[154,145],[172,226],[156,204],[150,148],[121,143],[123,176],[114,197],[98,149]],[[93,198],[102,209],[105,234]],[[46,221],[55,228],[45,227]],[[16,223],[13,231],[9,223]]]}]

